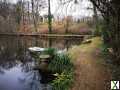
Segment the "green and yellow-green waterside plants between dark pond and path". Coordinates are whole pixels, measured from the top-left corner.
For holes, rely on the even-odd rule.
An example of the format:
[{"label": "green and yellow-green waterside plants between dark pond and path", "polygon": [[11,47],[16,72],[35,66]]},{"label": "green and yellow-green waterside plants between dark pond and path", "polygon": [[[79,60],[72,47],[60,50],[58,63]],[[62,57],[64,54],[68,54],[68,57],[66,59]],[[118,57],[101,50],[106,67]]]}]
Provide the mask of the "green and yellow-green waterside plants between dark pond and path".
[{"label": "green and yellow-green waterside plants between dark pond and path", "polygon": [[56,54],[51,60],[49,70],[57,73],[57,78],[52,81],[53,90],[68,90],[72,81],[74,68],[67,54]]}]

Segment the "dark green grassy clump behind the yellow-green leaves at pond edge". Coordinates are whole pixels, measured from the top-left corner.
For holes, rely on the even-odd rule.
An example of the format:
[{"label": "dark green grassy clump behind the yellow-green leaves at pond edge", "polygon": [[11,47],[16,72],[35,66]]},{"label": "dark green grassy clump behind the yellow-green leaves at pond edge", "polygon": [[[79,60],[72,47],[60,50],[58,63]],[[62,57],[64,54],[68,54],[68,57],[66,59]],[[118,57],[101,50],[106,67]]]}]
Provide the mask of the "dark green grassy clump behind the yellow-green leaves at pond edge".
[{"label": "dark green grassy clump behind the yellow-green leaves at pond edge", "polygon": [[73,65],[70,62],[70,58],[64,54],[56,54],[49,64],[49,69],[52,72],[58,73],[62,73],[64,70],[69,71],[72,67]]}]

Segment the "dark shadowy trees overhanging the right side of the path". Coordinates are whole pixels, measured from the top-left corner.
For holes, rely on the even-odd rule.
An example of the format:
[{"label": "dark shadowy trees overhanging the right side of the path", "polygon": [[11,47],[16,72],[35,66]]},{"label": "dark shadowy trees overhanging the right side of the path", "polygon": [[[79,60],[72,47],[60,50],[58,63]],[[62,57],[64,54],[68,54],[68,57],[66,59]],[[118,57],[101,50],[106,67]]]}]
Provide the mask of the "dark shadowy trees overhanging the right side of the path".
[{"label": "dark shadowy trees overhanging the right side of the path", "polygon": [[120,0],[90,0],[104,19],[102,36],[112,49],[112,56],[120,64]]}]

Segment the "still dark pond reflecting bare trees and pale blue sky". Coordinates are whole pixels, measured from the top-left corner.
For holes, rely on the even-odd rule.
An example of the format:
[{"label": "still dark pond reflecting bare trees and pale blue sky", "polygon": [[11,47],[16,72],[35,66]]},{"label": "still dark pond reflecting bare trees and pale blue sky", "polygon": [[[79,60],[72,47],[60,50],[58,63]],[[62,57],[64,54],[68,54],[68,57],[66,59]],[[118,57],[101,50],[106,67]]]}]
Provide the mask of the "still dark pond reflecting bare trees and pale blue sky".
[{"label": "still dark pond reflecting bare trees and pale blue sky", "polygon": [[0,90],[51,90],[46,75],[32,69],[34,58],[28,48],[67,50],[81,41],[82,38],[74,37],[0,36]]}]

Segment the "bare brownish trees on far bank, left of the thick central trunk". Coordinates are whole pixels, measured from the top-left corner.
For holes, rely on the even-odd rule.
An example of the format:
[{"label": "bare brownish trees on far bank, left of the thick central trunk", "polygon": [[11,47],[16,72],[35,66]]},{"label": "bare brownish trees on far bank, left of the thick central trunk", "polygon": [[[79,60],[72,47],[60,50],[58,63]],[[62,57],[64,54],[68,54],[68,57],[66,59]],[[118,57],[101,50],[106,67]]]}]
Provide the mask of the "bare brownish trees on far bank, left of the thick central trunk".
[{"label": "bare brownish trees on far bank, left of the thick central trunk", "polygon": [[45,0],[0,0],[0,32],[17,32],[26,23],[33,24],[37,32],[40,12],[46,6]]}]

